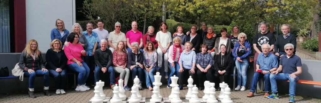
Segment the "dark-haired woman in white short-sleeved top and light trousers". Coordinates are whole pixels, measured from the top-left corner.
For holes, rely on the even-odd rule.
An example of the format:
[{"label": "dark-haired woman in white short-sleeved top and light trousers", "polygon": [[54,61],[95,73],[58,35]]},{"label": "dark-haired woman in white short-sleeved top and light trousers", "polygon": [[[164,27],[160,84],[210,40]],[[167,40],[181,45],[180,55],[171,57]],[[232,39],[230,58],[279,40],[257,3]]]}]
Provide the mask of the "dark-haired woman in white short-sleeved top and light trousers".
[{"label": "dark-haired woman in white short-sleeved top and light trousers", "polygon": [[157,32],[156,34],[156,38],[155,40],[158,43],[158,48],[157,48],[157,54],[158,54],[158,68],[157,71],[159,71],[161,69],[161,65],[163,62],[163,54],[164,54],[164,65],[165,65],[165,78],[168,79],[169,75],[168,75],[168,48],[170,46],[170,43],[172,42],[172,38],[171,38],[171,34],[169,31],[166,30],[167,29],[167,24],[166,22],[162,22],[160,23],[160,31]]}]

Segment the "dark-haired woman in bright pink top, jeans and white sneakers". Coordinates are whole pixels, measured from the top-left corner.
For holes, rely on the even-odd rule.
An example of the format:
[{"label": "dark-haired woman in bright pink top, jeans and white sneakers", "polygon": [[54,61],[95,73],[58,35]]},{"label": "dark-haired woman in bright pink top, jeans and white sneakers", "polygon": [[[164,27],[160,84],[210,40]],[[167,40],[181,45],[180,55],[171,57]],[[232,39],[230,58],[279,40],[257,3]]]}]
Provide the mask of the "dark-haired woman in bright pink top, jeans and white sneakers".
[{"label": "dark-haired woman in bright pink top, jeans and white sneakers", "polygon": [[68,58],[67,67],[68,69],[79,73],[78,74],[78,85],[76,87],[76,91],[86,91],[90,90],[87,86],[85,86],[87,78],[89,76],[89,67],[88,65],[81,59],[80,56],[86,56],[87,53],[83,50],[81,44],[78,44],[79,35],[77,33],[71,32],[68,37],[69,46],[65,47],[65,54]]}]

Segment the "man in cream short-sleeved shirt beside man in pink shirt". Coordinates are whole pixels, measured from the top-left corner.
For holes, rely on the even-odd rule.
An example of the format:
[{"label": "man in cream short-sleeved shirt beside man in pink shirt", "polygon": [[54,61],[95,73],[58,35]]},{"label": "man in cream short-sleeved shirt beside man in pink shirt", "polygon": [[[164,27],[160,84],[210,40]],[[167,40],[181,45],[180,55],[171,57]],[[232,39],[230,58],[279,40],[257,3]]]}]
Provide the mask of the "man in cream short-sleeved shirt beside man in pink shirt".
[{"label": "man in cream short-sleeved shirt beside man in pink shirt", "polygon": [[126,47],[127,41],[126,41],[126,35],[125,33],[120,31],[121,25],[117,21],[115,23],[115,30],[109,33],[108,38],[108,44],[109,44],[109,50],[113,53],[115,51],[115,47],[117,46],[117,43],[119,41],[124,42],[124,47]]}]

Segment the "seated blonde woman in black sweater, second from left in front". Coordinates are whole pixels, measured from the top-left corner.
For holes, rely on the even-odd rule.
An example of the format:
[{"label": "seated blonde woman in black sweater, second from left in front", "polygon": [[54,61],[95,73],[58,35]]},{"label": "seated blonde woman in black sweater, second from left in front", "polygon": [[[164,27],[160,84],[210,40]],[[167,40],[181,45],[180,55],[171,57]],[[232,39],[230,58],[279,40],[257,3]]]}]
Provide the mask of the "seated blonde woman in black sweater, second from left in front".
[{"label": "seated blonde woman in black sweater, second from left in front", "polygon": [[62,42],[54,39],[46,53],[46,68],[49,70],[49,76],[55,78],[56,94],[66,94],[64,89],[67,80],[66,64],[68,59],[65,51],[61,48]]}]

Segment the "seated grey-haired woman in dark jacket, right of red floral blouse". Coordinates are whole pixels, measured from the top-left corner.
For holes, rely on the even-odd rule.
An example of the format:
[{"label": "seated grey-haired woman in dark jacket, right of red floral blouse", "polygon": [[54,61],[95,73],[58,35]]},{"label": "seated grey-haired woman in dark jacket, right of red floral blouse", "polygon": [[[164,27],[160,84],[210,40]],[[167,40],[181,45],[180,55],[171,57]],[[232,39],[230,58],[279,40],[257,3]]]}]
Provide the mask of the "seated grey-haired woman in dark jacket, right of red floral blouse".
[{"label": "seated grey-haired woman in dark jacket, right of red floral blouse", "polygon": [[144,61],[144,56],[143,53],[138,50],[139,45],[137,42],[132,42],[131,44],[131,49],[128,54],[128,65],[127,68],[130,68],[132,71],[132,79],[134,81],[135,77],[138,76],[139,78],[139,87],[138,90],[143,90],[142,87],[142,75],[143,75],[143,61]]}]

